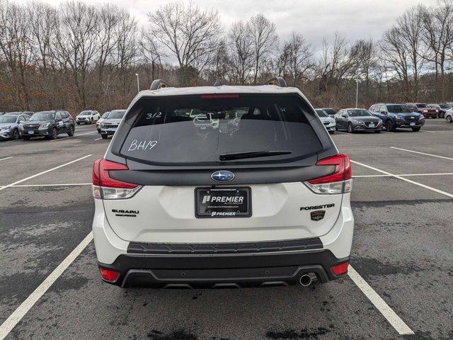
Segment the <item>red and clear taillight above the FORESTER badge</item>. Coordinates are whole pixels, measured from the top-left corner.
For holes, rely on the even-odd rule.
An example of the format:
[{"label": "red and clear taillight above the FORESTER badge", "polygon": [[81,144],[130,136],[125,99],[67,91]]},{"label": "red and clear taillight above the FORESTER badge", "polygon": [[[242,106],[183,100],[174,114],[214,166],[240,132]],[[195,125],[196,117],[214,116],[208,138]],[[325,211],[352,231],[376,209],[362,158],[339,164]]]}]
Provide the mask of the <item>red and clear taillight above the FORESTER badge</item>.
[{"label": "red and clear taillight above the FORESTER badge", "polygon": [[348,155],[336,154],[316,162],[316,166],[326,165],[334,165],[335,171],[332,174],[305,181],[305,185],[314,193],[350,193],[352,189],[352,173]]}]

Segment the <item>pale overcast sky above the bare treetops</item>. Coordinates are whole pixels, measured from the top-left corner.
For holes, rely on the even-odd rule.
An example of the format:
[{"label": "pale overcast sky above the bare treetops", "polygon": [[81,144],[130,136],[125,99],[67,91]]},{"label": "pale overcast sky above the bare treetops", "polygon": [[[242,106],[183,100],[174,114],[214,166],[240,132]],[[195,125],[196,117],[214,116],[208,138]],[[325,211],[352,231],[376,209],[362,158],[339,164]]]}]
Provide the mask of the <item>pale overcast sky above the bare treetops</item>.
[{"label": "pale overcast sky above the bare treetops", "polygon": [[[170,0],[83,1],[90,4],[115,3],[132,11],[140,23],[147,23],[147,12]],[[45,2],[60,4],[64,1]],[[296,30],[318,50],[323,37],[331,39],[336,30],[350,41],[379,39],[406,8],[418,3],[435,5],[436,0],[193,0],[193,3],[218,9],[225,27],[263,13],[276,24],[280,38],[287,38],[291,30]]]}]

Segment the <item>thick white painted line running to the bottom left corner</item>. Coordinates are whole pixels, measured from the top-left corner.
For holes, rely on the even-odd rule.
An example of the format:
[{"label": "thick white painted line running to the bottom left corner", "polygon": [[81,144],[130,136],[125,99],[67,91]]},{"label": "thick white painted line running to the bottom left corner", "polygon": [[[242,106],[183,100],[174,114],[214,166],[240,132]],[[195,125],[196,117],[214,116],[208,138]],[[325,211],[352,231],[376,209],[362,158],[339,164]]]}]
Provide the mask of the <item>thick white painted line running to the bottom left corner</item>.
[{"label": "thick white painted line running to the bottom left corner", "polygon": [[40,300],[40,297],[47,292],[47,290],[50,288],[50,286],[55,283],[57,278],[62,275],[62,273],[69,267],[69,265],[77,258],[77,256],[80,255],[80,253],[88,246],[88,244],[91,242],[93,239],[93,232],[90,232],[82,242],[79,243],[76,248],[74,248],[73,251],[71,251],[71,254],[67,256],[66,259],[62,261],[62,263],[59,263],[57,268],[50,273],[47,278],[45,278],[44,281],[36,288],[33,293],[31,293],[24,302],[21,303],[19,307],[16,308],[16,310],[11,314],[8,319],[5,320],[3,324],[0,326],[0,340],[3,340],[6,338],[6,336],[9,334],[9,332],[16,327],[16,324],[21,321],[21,319],[27,314],[27,312],[30,310],[33,305],[35,305],[38,300]]}]

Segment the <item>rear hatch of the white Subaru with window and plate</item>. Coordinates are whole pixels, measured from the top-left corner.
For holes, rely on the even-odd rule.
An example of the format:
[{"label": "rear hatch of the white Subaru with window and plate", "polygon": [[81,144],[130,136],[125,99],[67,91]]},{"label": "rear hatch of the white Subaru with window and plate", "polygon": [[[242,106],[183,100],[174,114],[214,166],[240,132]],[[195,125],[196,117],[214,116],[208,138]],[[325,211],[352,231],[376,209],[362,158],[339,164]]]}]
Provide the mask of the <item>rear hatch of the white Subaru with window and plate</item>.
[{"label": "rear hatch of the white Subaru with window and plate", "polygon": [[[107,171],[110,180],[135,183],[138,191],[104,199],[106,217],[134,242],[317,237],[340,212],[337,154],[297,94],[144,97],[105,157],[125,164]],[[336,161],[319,162],[332,156]],[[327,188],[338,180],[339,191]],[[316,186],[331,194],[314,193]]]}]

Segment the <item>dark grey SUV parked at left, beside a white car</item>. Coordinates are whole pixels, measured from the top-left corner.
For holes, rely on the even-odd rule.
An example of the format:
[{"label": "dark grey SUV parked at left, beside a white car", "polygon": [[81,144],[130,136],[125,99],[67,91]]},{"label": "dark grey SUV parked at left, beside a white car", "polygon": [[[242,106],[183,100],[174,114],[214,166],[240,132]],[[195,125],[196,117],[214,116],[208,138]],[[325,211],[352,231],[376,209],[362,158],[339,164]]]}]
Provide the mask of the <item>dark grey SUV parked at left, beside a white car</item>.
[{"label": "dark grey SUV parked at left, beside a white car", "polygon": [[21,137],[30,140],[31,137],[45,137],[56,140],[60,133],[74,136],[76,123],[67,111],[40,111],[34,113],[30,120],[19,125]]}]

